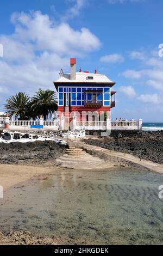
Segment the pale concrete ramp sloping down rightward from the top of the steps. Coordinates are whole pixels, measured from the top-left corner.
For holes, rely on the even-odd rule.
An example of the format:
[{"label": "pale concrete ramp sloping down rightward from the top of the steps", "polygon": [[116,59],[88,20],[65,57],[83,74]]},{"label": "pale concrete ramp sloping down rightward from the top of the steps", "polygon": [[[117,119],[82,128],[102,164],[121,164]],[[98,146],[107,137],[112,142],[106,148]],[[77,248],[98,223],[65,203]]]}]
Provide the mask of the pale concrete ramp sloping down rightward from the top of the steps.
[{"label": "pale concrete ramp sloping down rightward from the top of the steps", "polygon": [[[81,139],[78,139],[78,141],[75,141],[73,139],[73,143],[76,144],[76,147],[82,148],[89,152],[90,154],[93,154],[95,156],[99,156],[105,160],[119,163],[120,165],[124,166],[132,166],[132,164],[129,165],[129,163],[133,163],[133,167],[142,167],[148,170],[152,170],[154,172],[163,173],[163,164],[154,163],[151,161],[142,160],[140,161],[139,157],[109,150],[109,149],[103,149],[100,147],[96,147],[95,145],[90,144],[84,144]],[[125,163],[127,165],[125,165]]]}]

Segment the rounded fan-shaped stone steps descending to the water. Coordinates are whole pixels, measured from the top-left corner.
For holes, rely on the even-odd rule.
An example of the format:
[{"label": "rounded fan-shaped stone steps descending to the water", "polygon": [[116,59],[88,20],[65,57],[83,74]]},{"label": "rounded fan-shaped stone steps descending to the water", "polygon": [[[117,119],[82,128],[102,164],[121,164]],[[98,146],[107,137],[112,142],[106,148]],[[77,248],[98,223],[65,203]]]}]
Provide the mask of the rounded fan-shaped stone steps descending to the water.
[{"label": "rounded fan-shaped stone steps descending to the water", "polygon": [[69,148],[66,149],[66,154],[56,160],[57,164],[64,168],[73,169],[105,169],[113,167],[114,164],[93,157],[87,154],[83,149],[77,148],[69,139]]}]

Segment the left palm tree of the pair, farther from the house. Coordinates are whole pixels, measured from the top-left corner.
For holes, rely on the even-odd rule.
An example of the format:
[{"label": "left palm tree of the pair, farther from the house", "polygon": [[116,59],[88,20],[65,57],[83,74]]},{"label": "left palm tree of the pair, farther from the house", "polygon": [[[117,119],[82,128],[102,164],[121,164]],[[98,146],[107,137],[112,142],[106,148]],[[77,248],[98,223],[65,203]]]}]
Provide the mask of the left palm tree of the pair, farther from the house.
[{"label": "left palm tree of the pair, farther from the house", "polygon": [[4,104],[4,108],[7,109],[7,114],[9,117],[15,114],[15,119],[19,117],[20,120],[26,120],[28,115],[28,104],[30,102],[30,97],[25,93],[18,93],[9,97]]}]

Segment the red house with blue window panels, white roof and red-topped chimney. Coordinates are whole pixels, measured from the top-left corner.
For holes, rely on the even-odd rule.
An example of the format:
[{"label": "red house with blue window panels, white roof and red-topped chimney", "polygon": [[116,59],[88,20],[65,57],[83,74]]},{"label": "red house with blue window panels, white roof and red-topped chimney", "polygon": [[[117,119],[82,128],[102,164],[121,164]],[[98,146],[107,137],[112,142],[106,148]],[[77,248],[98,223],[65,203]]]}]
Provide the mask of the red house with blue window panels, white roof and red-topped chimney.
[{"label": "red house with blue window panels, white roof and red-topped chimney", "polygon": [[[79,120],[92,120],[95,113],[111,113],[115,107],[115,93],[112,86],[115,82],[105,75],[89,73],[80,69],[76,72],[76,58],[70,59],[70,74],[60,72],[60,78],[54,81],[58,92],[59,118],[64,114],[65,118],[72,118],[76,113]],[[93,115],[92,115],[92,114]]]}]

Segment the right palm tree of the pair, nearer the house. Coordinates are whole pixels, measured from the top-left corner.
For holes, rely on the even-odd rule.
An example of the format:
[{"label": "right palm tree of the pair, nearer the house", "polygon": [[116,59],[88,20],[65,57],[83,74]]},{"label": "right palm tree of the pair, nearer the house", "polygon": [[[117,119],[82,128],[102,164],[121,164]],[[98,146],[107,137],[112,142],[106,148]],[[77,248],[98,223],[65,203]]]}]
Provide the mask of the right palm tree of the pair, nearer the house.
[{"label": "right palm tree of the pair, nearer the house", "polygon": [[53,90],[39,89],[32,98],[32,109],[36,116],[43,115],[44,120],[47,120],[48,115],[52,117],[54,111],[57,111],[57,95]]}]

